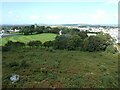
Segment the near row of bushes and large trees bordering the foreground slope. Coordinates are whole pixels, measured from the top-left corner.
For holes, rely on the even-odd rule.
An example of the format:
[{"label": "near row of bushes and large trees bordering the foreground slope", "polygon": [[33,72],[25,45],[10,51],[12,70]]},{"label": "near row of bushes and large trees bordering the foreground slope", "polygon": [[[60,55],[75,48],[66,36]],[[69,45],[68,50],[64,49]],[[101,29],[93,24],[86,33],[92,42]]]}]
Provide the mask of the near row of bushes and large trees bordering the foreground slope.
[{"label": "near row of bushes and large trees bordering the foreground slope", "polygon": [[99,33],[96,36],[89,36],[85,31],[71,30],[69,33],[58,35],[53,41],[29,41],[27,44],[23,42],[8,41],[3,47],[3,51],[7,51],[14,47],[45,47],[60,50],[81,50],[81,51],[111,51],[117,52],[113,46],[114,40],[109,34]]}]

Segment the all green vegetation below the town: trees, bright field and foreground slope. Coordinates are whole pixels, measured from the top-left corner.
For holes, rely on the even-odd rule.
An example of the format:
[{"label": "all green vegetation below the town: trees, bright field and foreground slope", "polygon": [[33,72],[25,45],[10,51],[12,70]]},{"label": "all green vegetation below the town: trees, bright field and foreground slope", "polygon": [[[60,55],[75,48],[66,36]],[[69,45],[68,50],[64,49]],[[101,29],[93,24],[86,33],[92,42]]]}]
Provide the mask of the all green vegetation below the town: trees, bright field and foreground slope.
[{"label": "all green vegetation below the town: trees, bright field and foreground slope", "polygon": [[[31,25],[21,29],[24,35],[3,38],[3,88],[118,88],[110,35],[68,28],[57,35],[60,30]],[[20,80],[11,83],[12,74]]]}]

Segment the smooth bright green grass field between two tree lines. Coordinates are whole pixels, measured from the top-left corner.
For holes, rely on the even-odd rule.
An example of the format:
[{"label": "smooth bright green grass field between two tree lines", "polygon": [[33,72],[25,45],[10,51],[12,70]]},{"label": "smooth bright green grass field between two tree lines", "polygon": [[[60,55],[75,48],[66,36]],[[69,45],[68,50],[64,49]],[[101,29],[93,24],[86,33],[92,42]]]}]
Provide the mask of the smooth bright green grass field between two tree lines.
[{"label": "smooth bright green grass field between two tree lines", "polygon": [[2,38],[0,40],[0,46],[5,45],[5,43],[7,43],[9,40],[14,41],[14,42],[20,41],[20,42],[24,42],[24,43],[27,43],[32,40],[40,40],[41,42],[45,42],[45,41],[54,40],[55,37],[56,37],[56,34],[50,34],[50,33],[28,35],[28,36],[25,36],[25,35],[10,36],[10,37]]}]

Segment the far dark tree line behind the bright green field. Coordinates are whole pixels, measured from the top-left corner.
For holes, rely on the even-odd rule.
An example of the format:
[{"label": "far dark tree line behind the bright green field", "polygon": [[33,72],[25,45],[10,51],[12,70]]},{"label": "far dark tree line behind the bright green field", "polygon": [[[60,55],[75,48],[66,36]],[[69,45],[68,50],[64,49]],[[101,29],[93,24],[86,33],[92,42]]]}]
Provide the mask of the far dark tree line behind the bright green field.
[{"label": "far dark tree line behind the bright green field", "polygon": [[80,31],[77,28],[50,27],[50,26],[34,26],[34,25],[31,25],[31,26],[21,27],[20,33],[22,33],[24,35],[41,34],[41,33],[59,34],[60,30],[62,30],[62,34],[78,33]]}]

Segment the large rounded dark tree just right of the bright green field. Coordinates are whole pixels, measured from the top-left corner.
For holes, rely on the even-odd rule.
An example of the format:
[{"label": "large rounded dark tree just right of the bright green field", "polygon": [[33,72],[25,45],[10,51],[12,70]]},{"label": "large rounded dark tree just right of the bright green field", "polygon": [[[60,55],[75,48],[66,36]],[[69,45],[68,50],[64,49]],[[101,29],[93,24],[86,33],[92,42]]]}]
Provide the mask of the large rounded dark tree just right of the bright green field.
[{"label": "large rounded dark tree just right of the bright green field", "polygon": [[56,37],[54,41],[55,49],[75,50],[81,47],[82,40],[78,35],[64,34]]}]

